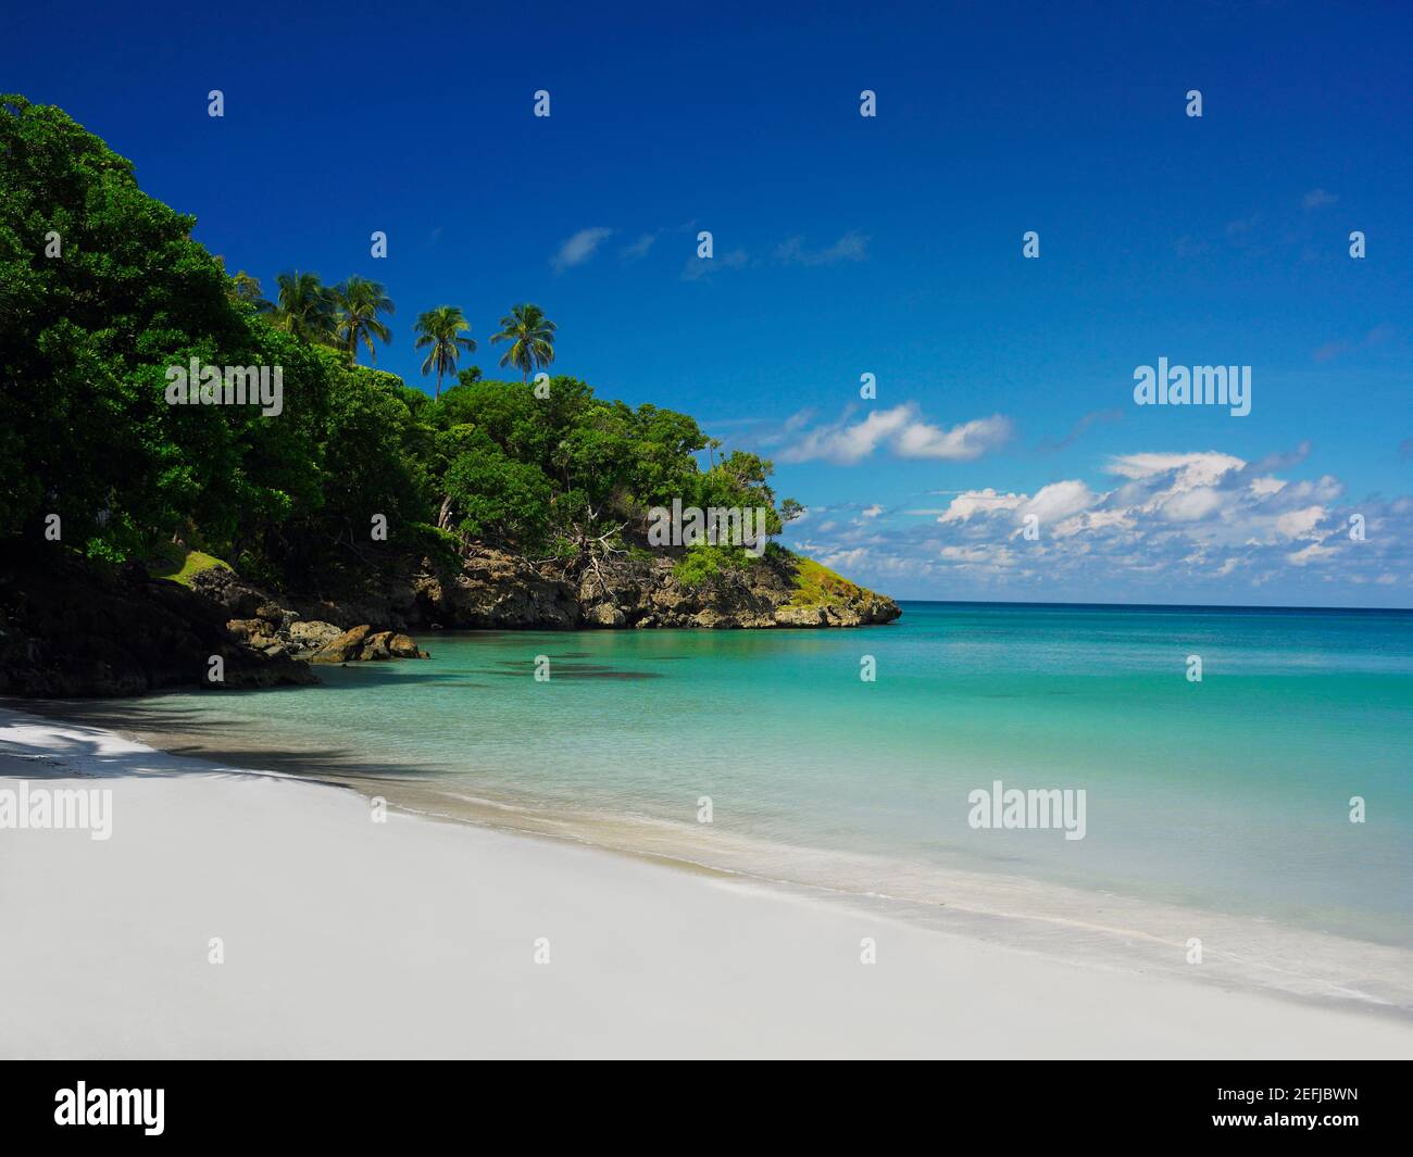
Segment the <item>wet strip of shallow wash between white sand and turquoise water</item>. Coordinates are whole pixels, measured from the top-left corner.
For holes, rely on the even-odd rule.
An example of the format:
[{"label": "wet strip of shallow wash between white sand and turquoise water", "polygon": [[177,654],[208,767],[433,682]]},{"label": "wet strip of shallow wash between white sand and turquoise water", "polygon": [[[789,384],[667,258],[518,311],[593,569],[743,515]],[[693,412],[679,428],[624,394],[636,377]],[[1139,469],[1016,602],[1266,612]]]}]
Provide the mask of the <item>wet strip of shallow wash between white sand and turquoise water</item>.
[{"label": "wet strip of shallow wash between white sand and turquoise water", "polygon": [[[6,706],[20,705],[0,701],[0,719]],[[318,757],[315,749],[266,749],[252,743],[249,733],[237,733],[236,743],[211,742],[212,720],[201,719],[201,728],[194,728],[175,712],[134,728],[119,726],[113,702],[47,706],[52,711],[35,713],[58,726],[76,715],[85,726],[112,730],[175,759],[195,759],[194,767],[259,767],[349,788],[365,798],[380,795],[390,807],[430,822],[591,848],[1080,966],[1160,975],[1335,1010],[1356,1007],[1413,1024],[1413,951],[1400,944],[1140,891],[1002,873],[988,865],[940,866],[773,842],[725,826],[571,808],[562,801],[486,788],[468,794],[461,784],[413,773],[379,756],[333,750]],[[194,737],[199,742],[189,742]],[[187,746],[178,747],[178,740]],[[1187,959],[1194,937],[1202,942],[1200,968]]]}]

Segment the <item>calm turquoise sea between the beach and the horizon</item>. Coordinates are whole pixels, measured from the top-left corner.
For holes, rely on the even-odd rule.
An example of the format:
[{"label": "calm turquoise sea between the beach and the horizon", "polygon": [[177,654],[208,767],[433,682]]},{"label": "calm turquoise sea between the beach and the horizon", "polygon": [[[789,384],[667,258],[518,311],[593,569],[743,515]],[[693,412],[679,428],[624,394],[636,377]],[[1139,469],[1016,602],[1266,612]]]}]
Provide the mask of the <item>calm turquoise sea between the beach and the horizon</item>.
[{"label": "calm turquoise sea between the beach and the horizon", "polygon": [[[122,711],[244,766],[356,764],[424,809],[839,893],[1050,886],[1413,947],[1413,612],[903,606],[861,630],[427,634],[430,661],[324,689]],[[998,780],[1082,788],[1084,839],[969,826]]]}]

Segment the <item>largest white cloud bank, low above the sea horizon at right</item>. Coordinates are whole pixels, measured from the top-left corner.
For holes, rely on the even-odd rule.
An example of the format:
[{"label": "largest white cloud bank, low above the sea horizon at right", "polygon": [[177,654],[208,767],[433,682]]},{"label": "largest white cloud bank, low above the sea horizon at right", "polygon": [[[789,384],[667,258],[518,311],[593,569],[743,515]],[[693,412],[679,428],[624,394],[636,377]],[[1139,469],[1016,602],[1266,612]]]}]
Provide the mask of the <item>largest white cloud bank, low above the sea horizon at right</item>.
[{"label": "largest white cloud bank, low above the sea horizon at right", "polygon": [[[1217,451],[1137,452],[1108,461],[1109,487],[1074,477],[1034,493],[995,486],[947,492],[941,511],[904,511],[934,513],[931,531],[907,521],[876,524],[868,566],[885,576],[892,559],[887,565],[899,575],[951,575],[1040,595],[1068,581],[1091,592],[1118,583],[1118,593],[1133,583],[1181,581],[1263,586],[1291,575],[1371,585],[1395,575],[1395,585],[1406,586],[1410,535],[1390,526],[1413,516],[1413,499],[1341,507],[1337,477],[1267,472],[1283,462],[1299,465],[1307,449],[1259,462]],[[1351,513],[1366,517],[1364,540],[1349,538]],[[1039,533],[1027,535],[1027,526]]]}]

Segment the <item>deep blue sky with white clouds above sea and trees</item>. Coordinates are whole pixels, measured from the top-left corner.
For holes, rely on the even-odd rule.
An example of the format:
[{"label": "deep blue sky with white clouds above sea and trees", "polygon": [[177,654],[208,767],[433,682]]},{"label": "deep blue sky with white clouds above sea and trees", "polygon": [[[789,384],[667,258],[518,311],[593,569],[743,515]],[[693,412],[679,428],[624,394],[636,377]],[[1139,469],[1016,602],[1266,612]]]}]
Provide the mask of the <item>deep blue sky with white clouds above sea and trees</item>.
[{"label": "deep blue sky with white clouds above sea and trees", "polygon": [[[55,3],[0,88],[267,288],[383,281],[410,383],[421,311],[493,374],[540,304],[557,370],[773,456],[790,544],[887,593],[1413,606],[1407,10],[585,7]],[[1251,366],[1251,414],[1137,407],[1159,357]]]}]

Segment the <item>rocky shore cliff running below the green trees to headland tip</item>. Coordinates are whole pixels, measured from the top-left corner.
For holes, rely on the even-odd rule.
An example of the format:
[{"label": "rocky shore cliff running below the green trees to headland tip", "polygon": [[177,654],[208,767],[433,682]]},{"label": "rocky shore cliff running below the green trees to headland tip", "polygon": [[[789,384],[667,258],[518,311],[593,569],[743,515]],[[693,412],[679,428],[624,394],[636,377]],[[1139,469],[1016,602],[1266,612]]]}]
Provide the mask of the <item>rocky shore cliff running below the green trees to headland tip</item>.
[{"label": "rocky shore cliff running below the green trees to headland tip", "polygon": [[[425,658],[438,630],[779,629],[889,623],[897,603],[771,551],[684,581],[680,558],[623,555],[584,574],[473,547],[452,565],[406,557],[338,598],[271,592],[206,559],[178,578],[61,550],[0,568],[0,695],[141,695],[317,684],[324,663]],[[219,658],[220,677],[212,678]]]}]

